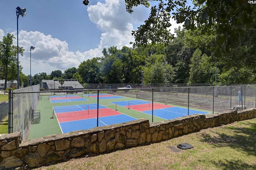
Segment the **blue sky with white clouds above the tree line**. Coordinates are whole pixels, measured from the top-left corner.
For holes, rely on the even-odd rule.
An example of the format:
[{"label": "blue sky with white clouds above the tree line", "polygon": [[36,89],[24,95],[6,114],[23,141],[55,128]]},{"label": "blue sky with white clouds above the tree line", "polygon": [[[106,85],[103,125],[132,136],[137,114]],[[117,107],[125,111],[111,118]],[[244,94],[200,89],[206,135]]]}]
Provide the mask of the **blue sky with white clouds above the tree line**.
[{"label": "blue sky with white clouds above the tree line", "polygon": [[[101,57],[103,48],[132,47],[132,30],[144,23],[150,8],[138,6],[126,12],[124,0],[0,0],[0,41],[13,34],[17,46],[16,8],[26,8],[26,16],[18,18],[18,45],[22,73],[26,76],[76,67],[94,57]],[[182,26],[172,23],[174,28]],[[30,46],[34,46],[31,50]]]}]

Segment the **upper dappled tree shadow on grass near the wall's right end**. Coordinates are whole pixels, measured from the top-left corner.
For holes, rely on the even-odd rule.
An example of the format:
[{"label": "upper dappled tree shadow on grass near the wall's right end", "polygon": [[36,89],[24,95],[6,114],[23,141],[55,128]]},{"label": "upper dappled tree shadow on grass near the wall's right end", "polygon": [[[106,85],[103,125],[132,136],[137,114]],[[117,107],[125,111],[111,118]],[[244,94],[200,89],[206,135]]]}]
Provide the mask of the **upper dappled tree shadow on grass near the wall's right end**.
[{"label": "upper dappled tree shadow on grass near the wall's right end", "polygon": [[225,126],[222,132],[202,134],[200,141],[213,144],[214,147],[228,146],[256,156],[256,124],[239,122],[239,127]]}]

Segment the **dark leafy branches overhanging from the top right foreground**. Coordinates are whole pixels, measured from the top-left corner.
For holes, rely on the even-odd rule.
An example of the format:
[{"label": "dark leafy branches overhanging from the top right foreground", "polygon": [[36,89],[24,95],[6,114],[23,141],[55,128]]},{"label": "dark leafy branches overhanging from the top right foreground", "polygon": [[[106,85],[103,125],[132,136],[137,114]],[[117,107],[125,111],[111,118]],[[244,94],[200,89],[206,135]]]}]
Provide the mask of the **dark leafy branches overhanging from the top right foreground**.
[{"label": "dark leafy branches overhanging from the top right foreground", "polygon": [[[186,0],[154,0],[158,5],[151,6],[151,12],[144,24],[132,31],[134,44],[169,44],[174,36],[170,33],[170,20],[184,23],[187,30],[200,28],[202,34],[216,32],[216,55],[229,52],[236,45],[246,29],[252,27],[255,20],[255,5],[246,0],[193,0],[190,6]],[[150,7],[150,0],[125,0],[126,11],[138,5]],[[83,1],[84,5],[89,0]]]}]

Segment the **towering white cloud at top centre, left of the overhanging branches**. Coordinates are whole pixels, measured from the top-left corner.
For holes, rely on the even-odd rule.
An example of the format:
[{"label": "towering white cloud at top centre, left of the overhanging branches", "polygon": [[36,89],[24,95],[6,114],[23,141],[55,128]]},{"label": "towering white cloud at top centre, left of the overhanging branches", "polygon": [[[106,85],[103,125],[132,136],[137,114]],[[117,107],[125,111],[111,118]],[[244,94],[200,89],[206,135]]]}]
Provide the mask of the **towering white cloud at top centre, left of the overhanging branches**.
[{"label": "towering white cloud at top centre, left of the overhanging branches", "polygon": [[123,0],[106,0],[88,6],[87,11],[90,20],[103,32],[99,44],[99,48],[102,49],[110,46],[131,46],[130,42],[134,42],[131,34],[133,25],[142,23],[149,9],[138,6],[129,14]]}]

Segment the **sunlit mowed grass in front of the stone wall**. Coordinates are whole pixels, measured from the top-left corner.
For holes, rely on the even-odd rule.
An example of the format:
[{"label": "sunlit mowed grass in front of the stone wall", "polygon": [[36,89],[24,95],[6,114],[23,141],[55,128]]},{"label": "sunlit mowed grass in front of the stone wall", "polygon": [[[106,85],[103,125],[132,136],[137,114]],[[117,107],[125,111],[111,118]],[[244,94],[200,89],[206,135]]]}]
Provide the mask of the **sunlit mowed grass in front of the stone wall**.
[{"label": "sunlit mowed grass in front of the stone wall", "polygon": [[[164,142],[84,155],[36,170],[255,170],[256,118],[208,128]],[[188,143],[192,149],[179,150]]]}]

